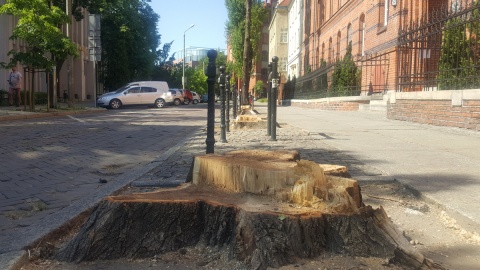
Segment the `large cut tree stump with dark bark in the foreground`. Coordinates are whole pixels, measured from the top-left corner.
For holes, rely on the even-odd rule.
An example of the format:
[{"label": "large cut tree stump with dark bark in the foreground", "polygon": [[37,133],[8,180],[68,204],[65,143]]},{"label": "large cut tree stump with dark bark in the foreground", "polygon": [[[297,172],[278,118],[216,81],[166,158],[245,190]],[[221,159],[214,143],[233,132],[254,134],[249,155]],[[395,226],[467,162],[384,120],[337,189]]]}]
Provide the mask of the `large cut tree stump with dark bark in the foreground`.
[{"label": "large cut tree stump with dark bark in the foreground", "polygon": [[194,158],[192,181],[110,196],[56,254],[65,261],[147,258],[204,244],[266,269],[324,252],[431,266],[382,208],[362,203],[345,167],[296,151],[233,151]]}]

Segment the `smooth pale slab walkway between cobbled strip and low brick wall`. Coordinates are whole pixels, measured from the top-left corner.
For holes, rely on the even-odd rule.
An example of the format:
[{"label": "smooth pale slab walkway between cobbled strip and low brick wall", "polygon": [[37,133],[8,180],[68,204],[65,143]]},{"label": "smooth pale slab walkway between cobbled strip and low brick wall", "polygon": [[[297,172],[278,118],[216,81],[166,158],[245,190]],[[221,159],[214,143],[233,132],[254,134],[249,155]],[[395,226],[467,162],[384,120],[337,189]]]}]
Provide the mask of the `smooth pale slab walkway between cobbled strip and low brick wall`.
[{"label": "smooth pale slab walkway between cobbled strip and low brick wall", "polygon": [[277,119],[412,187],[480,232],[479,132],[389,120],[385,112],[279,107]]}]

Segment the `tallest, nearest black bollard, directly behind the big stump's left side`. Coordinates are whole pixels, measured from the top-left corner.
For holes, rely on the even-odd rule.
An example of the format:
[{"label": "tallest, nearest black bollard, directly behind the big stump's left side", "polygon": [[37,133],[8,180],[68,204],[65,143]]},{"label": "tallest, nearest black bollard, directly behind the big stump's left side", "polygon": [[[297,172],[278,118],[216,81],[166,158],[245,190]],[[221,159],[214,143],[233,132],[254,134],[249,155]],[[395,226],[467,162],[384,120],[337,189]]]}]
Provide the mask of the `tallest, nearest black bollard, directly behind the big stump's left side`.
[{"label": "tallest, nearest black bollard, directly behind the big stump's left side", "polygon": [[207,53],[207,84],[208,84],[208,112],[207,112],[207,154],[215,153],[215,77],[217,76],[217,67],[215,59],[217,51],[209,50]]}]

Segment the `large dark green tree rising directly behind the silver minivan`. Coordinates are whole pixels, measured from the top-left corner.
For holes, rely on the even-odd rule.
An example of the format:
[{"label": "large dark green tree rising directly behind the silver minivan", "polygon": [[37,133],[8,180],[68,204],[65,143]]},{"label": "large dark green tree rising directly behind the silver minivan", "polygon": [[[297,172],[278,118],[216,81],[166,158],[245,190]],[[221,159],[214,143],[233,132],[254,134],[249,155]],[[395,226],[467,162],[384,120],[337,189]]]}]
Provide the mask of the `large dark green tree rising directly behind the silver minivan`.
[{"label": "large dark green tree rising directly behind the silver minivan", "polygon": [[148,0],[111,0],[102,13],[102,68],[107,88],[136,80],[152,79],[157,51],[159,16]]}]

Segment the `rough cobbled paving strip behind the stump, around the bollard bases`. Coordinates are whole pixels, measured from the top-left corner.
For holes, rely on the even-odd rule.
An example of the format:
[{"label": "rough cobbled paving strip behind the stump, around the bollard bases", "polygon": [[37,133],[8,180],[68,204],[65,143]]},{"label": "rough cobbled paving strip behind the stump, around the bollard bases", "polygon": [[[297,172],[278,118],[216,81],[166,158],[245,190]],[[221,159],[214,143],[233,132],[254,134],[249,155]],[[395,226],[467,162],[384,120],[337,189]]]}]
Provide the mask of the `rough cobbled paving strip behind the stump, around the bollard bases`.
[{"label": "rough cobbled paving strip behind the stump, around the bollard bases", "polygon": [[[352,177],[358,181],[393,181],[381,171],[355,160],[323,142],[324,137],[280,123],[277,140],[271,141],[266,129],[243,129],[227,132],[227,143],[220,143],[219,128],[216,128],[215,153],[233,150],[297,150],[302,159],[317,163],[347,166]],[[206,154],[206,129],[196,132],[176,153],[161,165],[137,178],[133,187],[149,189],[184,183],[192,165],[193,157]]]}]

